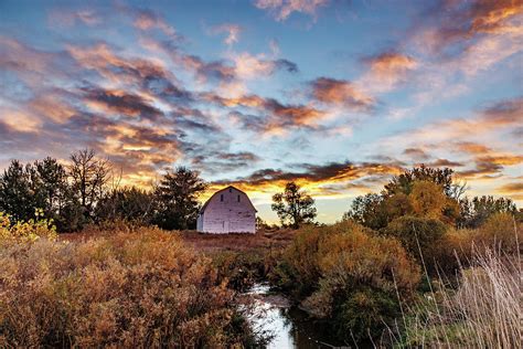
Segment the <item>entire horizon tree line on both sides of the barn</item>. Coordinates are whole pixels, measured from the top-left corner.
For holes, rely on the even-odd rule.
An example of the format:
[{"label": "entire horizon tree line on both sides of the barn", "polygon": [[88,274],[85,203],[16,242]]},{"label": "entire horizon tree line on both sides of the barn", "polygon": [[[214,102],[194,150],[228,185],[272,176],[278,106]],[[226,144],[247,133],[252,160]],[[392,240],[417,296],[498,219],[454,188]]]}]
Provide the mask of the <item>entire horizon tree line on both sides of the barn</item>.
[{"label": "entire horizon tree line on both sides of the barn", "polygon": [[[452,176],[448,168],[406,170],[381,193],[355,198],[342,219],[380,230],[398,216],[424,213],[458,228],[477,228],[497,212],[521,214],[510,199],[468,199],[466,186]],[[120,179],[110,161],[93,149],[73,152],[67,163],[51,157],[25,165],[12,160],[0,176],[0,211],[14,221],[28,221],[41,209],[58,232],[117,220],[167,230],[195,228],[198,199],[209,188],[198,171],[185,167],[167,170],[149,190],[120,186]],[[318,224],[314,200],[292,181],[273,195],[271,209],[281,226]],[[257,223],[266,226],[260,219]]]}]

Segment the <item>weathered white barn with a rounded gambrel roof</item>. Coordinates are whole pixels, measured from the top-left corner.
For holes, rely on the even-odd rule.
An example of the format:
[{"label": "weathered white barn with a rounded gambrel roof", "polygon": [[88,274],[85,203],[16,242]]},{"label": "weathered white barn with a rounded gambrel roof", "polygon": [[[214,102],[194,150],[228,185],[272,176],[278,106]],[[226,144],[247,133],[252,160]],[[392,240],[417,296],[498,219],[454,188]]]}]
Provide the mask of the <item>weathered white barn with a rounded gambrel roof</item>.
[{"label": "weathered white barn with a rounded gambrel roof", "polygon": [[204,233],[256,233],[256,209],[245,192],[232,186],[216,191],[202,207],[196,230]]}]

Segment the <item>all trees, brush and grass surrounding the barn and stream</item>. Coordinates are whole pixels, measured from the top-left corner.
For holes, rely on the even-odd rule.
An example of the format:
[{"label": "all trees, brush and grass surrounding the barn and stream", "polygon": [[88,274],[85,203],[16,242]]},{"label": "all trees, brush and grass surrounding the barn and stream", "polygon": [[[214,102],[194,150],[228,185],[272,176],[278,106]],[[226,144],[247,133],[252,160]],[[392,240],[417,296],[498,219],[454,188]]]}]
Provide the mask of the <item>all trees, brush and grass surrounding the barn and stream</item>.
[{"label": "all trees, brush and grass surrounding the barn and stream", "polygon": [[466,198],[450,169],[407,170],[331,225],[288,184],[274,205],[285,228],[209,235],[190,230],[198,172],[143,191],[74,157],[0,177],[0,347],[263,347],[238,300],[262,281],[348,345],[521,346],[522,212]]}]

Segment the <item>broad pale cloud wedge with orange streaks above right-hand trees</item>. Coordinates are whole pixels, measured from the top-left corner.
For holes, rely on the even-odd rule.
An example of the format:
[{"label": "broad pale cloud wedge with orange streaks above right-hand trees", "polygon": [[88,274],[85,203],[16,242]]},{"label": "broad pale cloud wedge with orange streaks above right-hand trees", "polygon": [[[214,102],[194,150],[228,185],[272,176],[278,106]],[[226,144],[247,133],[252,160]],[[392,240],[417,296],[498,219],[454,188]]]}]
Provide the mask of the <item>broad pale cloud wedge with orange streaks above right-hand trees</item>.
[{"label": "broad pale cloud wedge with orange streaks above right-hand trees", "polygon": [[[513,147],[517,140],[512,139],[512,130],[523,123],[522,116],[523,98],[502,99],[484,105],[468,117],[402,131],[382,140],[376,149],[388,149],[388,154],[403,151],[429,166],[460,167],[457,174],[461,179],[489,179],[501,176],[506,167],[523,162],[523,155]],[[416,159],[424,154],[425,159]],[[446,158],[449,155],[453,157],[451,160]]]}]

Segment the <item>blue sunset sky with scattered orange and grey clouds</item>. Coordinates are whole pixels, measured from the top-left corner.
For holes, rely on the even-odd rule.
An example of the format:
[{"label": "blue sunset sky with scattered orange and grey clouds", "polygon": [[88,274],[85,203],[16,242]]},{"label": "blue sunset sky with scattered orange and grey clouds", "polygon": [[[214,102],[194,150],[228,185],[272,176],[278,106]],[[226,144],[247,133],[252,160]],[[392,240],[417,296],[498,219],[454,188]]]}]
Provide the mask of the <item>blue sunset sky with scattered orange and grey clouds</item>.
[{"label": "blue sunset sky with scattered orange and grey clouds", "polygon": [[0,0],[0,170],[93,148],[334,222],[425,163],[522,207],[522,49],[515,0]]}]

